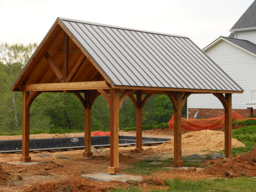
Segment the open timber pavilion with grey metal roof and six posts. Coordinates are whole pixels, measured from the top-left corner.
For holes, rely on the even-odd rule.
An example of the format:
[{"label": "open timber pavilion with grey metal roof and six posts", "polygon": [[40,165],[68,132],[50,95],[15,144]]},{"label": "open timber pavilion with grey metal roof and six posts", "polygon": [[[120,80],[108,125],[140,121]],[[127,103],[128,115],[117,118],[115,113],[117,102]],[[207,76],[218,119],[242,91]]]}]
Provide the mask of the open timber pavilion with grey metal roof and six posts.
[{"label": "open timber pavilion with grey metal roof and six posts", "polygon": [[71,92],[84,106],[84,157],[91,152],[91,108],[102,94],[111,112],[110,167],[120,172],[119,108],[126,96],[136,107],[136,150],[142,148],[142,109],[152,94],[174,107],[174,160],[182,167],[181,110],[191,94],[216,96],[225,109],[225,156],[231,156],[232,93],[242,93],[225,72],[186,36],[57,18],[12,91],[23,92],[22,156],[30,162],[29,108],[42,92]]}]

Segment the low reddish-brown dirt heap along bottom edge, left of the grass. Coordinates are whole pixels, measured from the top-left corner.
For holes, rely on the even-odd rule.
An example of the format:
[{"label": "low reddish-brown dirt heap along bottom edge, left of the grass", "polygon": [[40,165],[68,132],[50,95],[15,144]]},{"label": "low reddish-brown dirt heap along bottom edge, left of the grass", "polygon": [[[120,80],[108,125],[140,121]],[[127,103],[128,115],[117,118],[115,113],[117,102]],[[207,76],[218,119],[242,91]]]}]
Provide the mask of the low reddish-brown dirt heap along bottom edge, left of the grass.
[{"label": "low reddish-brown dirt heap along bottom edge, left of the grass", "polygon": [[28,188],[25,192],[99,192],[122,188],[127,185],[118,181],[92,181],[88,178],[74,176],[61,182],[36,184]]}]

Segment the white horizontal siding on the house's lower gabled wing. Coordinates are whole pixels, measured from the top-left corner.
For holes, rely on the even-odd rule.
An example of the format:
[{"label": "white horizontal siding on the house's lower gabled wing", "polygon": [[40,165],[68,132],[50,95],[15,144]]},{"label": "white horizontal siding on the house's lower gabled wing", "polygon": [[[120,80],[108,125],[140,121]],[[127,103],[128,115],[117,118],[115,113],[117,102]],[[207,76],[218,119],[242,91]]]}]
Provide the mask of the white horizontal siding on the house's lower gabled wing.
[{"label": "white horizontal siding on the house's lower gabled wing", "polygon": [[[206,50],[206,54],[244,89],[243,94],[232,95],[232,108],[248,110],[249,90],[256,89],[256,57],[224,40]],[[211,94],[194,94],[188,98],[188,112],[190,109],[203,111],[200,109],[223,109],[223,106]],[[248,116],[247,111],[243,113]]]}]

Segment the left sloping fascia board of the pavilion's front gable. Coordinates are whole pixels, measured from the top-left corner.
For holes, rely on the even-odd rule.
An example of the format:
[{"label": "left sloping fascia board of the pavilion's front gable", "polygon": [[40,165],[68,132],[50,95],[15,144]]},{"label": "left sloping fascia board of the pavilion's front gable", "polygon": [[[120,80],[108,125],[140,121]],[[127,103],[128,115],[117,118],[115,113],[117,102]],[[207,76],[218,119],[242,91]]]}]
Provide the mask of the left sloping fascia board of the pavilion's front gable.
[{"label": "left sloping fascia board of the pavilion's front gable", "polygon": [[38,45],[36,51],[33,53],[33,55],[30,57],[30,59],[28,60],[28,63],[23,67],[23,70],[20,72],[20,75],[17,77],[17,79],[15,80],[14,84],[12,85],[12,91],[18,91],[16,90],[19,89],[20,90],[20,80],[23,77],[24,73],[27,72],[29,66],[31,65],[31,63],[33,62],[33,60],[35,60],[36,56],[39,54],[39,52],[41,51],[41,49],[43,48],[44,44],[46,43],[46,41],[49,39],[49,37],[51,36],[52,32],[54,31],[54,29],[58,26],[58,22],[56,21],[53,25],[52,28],[48,31],[48,33],[46,34],[46,36],[44,37],[44,39],[42,40],[42,42]]}]

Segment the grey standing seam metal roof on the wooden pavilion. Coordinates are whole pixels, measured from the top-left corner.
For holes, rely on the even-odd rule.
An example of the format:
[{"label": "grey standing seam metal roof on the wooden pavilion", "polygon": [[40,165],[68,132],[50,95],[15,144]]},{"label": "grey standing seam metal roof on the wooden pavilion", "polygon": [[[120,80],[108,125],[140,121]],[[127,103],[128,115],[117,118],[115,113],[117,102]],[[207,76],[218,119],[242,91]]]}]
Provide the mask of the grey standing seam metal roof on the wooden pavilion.
[{"label": "grey standing seam metal roof on the wooden pavilion", "polygon": [[57,20],[114,86],[243,91],[186,36]]}]

